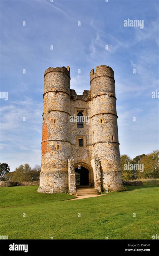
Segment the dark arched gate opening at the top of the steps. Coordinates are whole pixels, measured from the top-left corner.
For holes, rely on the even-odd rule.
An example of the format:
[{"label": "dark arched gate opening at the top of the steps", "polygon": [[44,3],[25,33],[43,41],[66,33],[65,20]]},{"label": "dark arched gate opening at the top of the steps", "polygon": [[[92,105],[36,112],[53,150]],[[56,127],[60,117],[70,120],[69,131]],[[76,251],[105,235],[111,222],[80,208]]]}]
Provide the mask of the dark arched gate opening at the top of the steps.
[{"label": "dark arched gate opening at the top of the steps", "polygon": [[88,186],[89,185],[89,170],[83,166],[81,166],[81,169],[78,169],[78,168],[80,168],[80,167],[77,167],[74,169],[76,185]]}]

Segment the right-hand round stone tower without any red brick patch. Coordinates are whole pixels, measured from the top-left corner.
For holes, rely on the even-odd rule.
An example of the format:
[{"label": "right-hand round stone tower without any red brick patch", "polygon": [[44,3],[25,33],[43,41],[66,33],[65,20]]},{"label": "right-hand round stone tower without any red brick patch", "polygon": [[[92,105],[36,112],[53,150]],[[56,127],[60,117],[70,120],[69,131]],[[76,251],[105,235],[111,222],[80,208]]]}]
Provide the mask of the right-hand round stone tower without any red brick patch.
[{"label": "right-hand round stone tower without any red brick patch", "polygon": [[92,105],[92,158],[99,157],[101,185],[104,189],[122,187],[116,115],[114,71],[97,66],[90,72]]}]

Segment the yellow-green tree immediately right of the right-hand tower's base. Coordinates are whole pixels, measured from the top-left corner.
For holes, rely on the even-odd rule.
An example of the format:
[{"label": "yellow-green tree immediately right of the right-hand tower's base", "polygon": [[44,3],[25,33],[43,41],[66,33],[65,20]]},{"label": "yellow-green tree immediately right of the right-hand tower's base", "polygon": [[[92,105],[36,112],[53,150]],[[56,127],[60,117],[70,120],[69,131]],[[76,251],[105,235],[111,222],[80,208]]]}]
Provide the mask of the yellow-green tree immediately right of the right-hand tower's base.
[{"label": "yellow-green tree immediately right of the right-hand tower's base", "polygon": [[134,180],[135,170],[133,160],[127,155],[121,155],[120,163],[123,181]]}]

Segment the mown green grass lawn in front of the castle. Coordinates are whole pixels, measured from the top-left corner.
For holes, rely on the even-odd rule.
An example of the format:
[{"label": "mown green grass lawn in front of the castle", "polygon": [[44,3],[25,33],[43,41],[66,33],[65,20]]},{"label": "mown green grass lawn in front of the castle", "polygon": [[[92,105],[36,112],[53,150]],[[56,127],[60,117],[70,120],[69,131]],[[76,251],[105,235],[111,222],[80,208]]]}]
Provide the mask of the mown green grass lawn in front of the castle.
[{"label": "mown green grass lawn in front of the castle", "polygon": [[0,188],[0,235],[8,239],[152,239],[159,234],[158,181],[73,201],[66,201],[74,198],[68,194],[41,194],[37,188]]}]

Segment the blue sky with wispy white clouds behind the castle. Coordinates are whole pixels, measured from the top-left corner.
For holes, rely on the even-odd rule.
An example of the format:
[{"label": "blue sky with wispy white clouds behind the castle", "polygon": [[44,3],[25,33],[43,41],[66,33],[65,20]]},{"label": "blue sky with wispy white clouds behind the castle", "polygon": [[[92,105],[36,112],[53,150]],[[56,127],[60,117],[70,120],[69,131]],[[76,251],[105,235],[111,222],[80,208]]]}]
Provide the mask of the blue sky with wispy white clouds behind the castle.
[{"label": "blue sky with wispy white clouds behind the castle", "polygon": [[[152,99],[159,91],[158,1],[0,3],[1,92],[8,92],[8,100],[0,99],[0,162],[11,171],[26,162],[41,164],[44,71],[67,65],[71,89],[78,94],[90,90],[92,68],[113,68],[120,154],[134,158],[158,149],[159,99]],[[124,27],[127,19],[144,20],[144,28]]]}]

